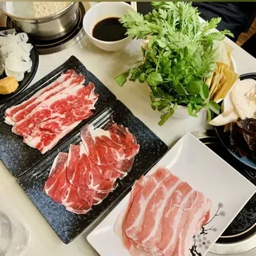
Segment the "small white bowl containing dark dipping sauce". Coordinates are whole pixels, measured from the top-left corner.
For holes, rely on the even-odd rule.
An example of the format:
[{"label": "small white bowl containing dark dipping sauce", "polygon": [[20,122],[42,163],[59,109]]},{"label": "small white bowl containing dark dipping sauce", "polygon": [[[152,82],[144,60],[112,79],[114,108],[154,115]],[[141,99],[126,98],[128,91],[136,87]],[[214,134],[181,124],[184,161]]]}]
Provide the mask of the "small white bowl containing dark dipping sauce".
[{"label": "small white bowl containing dark dipping sauce", "polygon": [[92,44],[107,51],[124,49],[131,41],[130,36],[122,40],[107,42],[94,38],[92,36],[92,30],[97,22],[108,17],[122,17],[128,10],[135,12],[135,9],[126,2],[99,2],[92,6],[83,17],[83,29],[92,41]]}]

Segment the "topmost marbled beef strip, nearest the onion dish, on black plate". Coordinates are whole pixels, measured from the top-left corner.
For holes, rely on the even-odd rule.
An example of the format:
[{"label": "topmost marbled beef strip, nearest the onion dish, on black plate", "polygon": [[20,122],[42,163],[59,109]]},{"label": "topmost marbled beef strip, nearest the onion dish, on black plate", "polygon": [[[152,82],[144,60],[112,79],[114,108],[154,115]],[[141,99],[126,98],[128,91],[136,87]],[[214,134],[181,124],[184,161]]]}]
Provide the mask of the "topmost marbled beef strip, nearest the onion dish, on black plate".
[{"label": "topmost marbled beef strip, nearest the onion dish, on black plate", "polygon": [[65,73],[62,73],[59,78],[57,78],[54,82],[47,85],[45,88],[40,89],[38,92],[36,92],[32,97],[27,99],[24,102],[21,102],[21,104],[18,104],[13,107],[7,108],[7,111],[5,112],[6,118],[5,121],[9,125],[14,125],[15,121],[12,121],[12,116],[15,115],[18,111],[21,111],[22,109],[26,108],[28,105],[30,105],[32,102],[35,102],[37,97],[40,97],[41,94],[44,92],[49,92],[53,88],[59,86],[59,84],[64,83],[69,78],[73,77],[75,75],[75,71],[73,69],[68,70]]}]

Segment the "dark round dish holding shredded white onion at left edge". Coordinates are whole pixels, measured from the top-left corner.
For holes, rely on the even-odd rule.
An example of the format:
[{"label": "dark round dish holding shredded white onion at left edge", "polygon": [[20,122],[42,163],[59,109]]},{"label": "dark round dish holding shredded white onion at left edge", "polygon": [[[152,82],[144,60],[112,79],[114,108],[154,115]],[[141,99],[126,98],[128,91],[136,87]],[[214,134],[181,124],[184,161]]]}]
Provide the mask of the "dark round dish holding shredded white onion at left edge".
[{"label": "dark round dish holding shredded white onion at left edge", "polygon": [[[4,31],[8,29],[7,27],[4,26],[0,26],[0,31]],[[33,45],[33,48],[31,50],[31,60],[32,60],[32,68],[31,68],[31,72],[30,73],[25,73],[24,74],[24,78],[21,82],[19,82],[19,87],[17,88],[17,90],[15,92],[12,92],[10,94],[7,95],[2,95],[0,94],[0,105],[10,101],[13,97],[17,96],[18,93],[22,92],[24,89],[26,89],[28,87],[28,85],[31,83],[32,79],[35,77],[36,71],[38,69],[38,64],[39,64],[39,55],[38,55],[38,51],[36,49],[36,45],[33,43],[33,41],[31,40],[30,36],[27,35],[29,37],[28,42],[31,43],[31,45]],[[6,74],[3,73],[2,76],[0,76],[0,78],[5,78]]]}]

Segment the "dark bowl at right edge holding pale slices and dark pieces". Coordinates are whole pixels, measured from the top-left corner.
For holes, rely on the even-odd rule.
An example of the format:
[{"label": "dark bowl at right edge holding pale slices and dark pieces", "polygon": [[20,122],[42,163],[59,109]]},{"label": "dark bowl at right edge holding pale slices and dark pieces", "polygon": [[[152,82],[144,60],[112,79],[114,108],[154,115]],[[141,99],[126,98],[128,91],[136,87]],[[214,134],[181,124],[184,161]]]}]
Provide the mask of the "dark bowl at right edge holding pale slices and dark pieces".
[{"label": "dark bowl at right edge holding pale slices and dark pieces", "polygon": [[[240,75],[240,80],[244,79],[254,79],[256,80],[256,73],[244,73]],[[219,104],[221,105],[222,102]],[[212,117],[216,117],[216,114],[212,114]],[[214,129],[216,130],[216,134],[218,135],[221,143],[225,146],[225,148],[230,152],[231,155],[235,157],[235,159],[238,159],[239,162],[249,166],[250,168],[254,168],[256,170],[256,160],[250,158],[250,157],[241,157],[237,152],[231,149],[230,145],[230,133],[224,132],[224,126],[214,126]]]}]

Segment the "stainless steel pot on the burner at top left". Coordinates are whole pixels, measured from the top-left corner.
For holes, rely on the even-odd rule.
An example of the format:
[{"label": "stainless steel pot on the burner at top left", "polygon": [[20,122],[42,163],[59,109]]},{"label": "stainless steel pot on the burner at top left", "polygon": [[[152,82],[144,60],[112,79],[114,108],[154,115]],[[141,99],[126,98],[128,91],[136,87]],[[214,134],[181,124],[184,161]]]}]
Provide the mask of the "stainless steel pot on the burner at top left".
[{"label": "stainless steel pot on the burner at top left", "polygon": [[12,19],[18,30],[24,31],[36,39],[52,40],[66,35],[76,25],[79,15],[79,2],[71,2],[63,10],[40,18],[17,17],[13,13],[7,12],[7,2],[0,2],[0,9],[7,17]]}]

